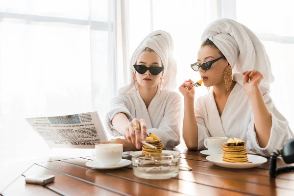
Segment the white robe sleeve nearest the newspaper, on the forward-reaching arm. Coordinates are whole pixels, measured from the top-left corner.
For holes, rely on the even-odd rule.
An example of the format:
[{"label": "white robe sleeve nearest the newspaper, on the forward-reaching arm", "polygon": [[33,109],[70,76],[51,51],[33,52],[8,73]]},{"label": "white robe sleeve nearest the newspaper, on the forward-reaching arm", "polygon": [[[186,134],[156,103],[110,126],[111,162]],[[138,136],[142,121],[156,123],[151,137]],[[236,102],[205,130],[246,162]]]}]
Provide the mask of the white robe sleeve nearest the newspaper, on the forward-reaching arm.
[{"label": "white robe sleeve nearest the newspaper, on the forward-reaching arm", "polygon": [[118,113],[124,113],[129,122],[133,120],[133,117],[128,109],[128,105],[131,105],[130,100],[124,95],[115,96],[110,100],[110,111],[106,114],[106,131],[114,137],[122,136],[113,126],[112,119]]}]

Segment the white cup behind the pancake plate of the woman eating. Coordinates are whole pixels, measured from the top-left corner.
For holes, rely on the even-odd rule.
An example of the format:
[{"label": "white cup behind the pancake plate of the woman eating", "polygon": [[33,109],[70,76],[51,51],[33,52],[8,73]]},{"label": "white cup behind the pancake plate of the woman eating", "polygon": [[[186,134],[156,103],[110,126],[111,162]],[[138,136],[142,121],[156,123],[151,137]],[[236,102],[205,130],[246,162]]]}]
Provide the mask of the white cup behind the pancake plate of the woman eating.
[{"label": "white cup behind the pancake plate of the woman eating", "polygon": [[221,145],[228,141],[227,137],[210,137],[204,140],[204,146],[209,150],[211,154],[221,154]]}]

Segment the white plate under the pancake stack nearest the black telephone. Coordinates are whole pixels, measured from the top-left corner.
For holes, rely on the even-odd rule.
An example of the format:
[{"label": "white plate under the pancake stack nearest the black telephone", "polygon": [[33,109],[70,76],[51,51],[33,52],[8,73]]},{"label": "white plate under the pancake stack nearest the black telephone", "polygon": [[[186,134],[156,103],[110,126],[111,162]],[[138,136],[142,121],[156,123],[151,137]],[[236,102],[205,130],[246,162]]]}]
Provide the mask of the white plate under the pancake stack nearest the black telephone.
[{"label": "white plate under the pancake stack nearest the black telephone", "polygon": [[257,155],[248,154],[249,163],[228,163],[222,161],[222,154],[213,154],[207,156],[206,159],[217,166],[221,166],[224,168],[234,168],[234,169],[246,169],[246,168],[254,168],[261,164],[264,164],[268,161],[267,158]]}]

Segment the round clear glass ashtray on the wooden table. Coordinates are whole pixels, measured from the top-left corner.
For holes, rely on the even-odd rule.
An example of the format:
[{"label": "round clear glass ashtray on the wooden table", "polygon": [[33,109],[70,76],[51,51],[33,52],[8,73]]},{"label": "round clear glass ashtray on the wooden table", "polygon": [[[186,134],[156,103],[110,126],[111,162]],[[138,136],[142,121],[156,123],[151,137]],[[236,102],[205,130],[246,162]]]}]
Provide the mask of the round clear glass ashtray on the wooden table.
[{"label": "round clear glass ashtray on the wooden table", "polygon": [[178,175],[180,156],[158,153],[148,157],[138,154],[132,157],[134,175],[145,179],[168,179]]}]

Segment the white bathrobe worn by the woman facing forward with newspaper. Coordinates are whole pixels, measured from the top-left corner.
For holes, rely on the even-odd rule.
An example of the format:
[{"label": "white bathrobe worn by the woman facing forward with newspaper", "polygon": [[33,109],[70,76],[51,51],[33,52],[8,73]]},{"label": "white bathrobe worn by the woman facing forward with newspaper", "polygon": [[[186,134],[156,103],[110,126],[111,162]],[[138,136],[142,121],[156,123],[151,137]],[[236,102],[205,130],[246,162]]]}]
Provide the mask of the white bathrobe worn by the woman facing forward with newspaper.
[{"label": "white bathrobe worn by the woman facing forward with newspaper", "polygon": [[147,134],[150,132],[162,140],[164,149],[173,149],[180,143],[181,97],[169,90],[157,91],[148,108],[139,91],[118,95],[110,101],[111,110],[107,113],[107,131],[115,137],[122,136],[111,124],[113,117],[124,113],[129,121],[144,119]]}]

